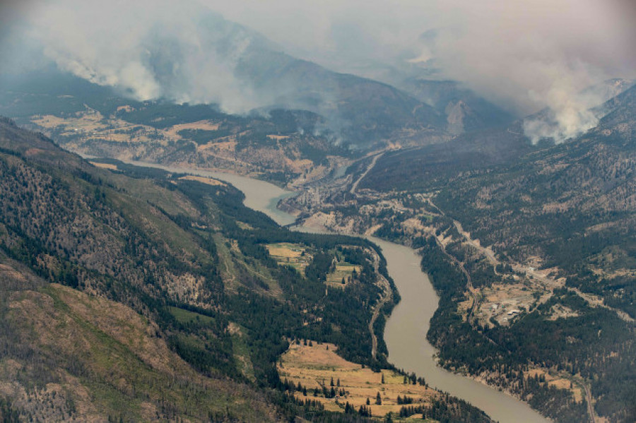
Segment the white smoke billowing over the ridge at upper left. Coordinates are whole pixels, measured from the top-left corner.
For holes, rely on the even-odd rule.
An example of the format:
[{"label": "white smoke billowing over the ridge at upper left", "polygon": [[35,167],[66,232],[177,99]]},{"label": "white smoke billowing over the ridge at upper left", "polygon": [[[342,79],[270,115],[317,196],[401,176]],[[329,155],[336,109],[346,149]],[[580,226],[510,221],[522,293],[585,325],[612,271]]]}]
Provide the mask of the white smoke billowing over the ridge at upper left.
[{"label": "white smoke billowing over the ridge at upper left", "polygon": [[29,19],[31,39],[61,70],[136,100],[218,103],[228,113],[272,101],[237,77],[252,32],[199,5],[63,0],[41,4]]}]

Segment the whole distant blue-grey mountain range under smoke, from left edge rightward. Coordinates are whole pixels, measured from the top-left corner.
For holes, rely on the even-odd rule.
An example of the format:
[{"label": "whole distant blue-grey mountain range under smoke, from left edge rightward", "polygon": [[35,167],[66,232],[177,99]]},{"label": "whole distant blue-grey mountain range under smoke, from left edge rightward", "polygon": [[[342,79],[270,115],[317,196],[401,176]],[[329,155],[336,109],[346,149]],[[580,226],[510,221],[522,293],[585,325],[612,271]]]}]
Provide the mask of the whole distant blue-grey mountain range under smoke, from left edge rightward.
[{"label": "whole distant blue-grey mountain range under smoke, from left edge rightward", "polygon": [[[420,145],[439,142],[457,133],[505,124],[512,119],[507,112],[452,81],[410,81],[400,90],[330,71],[285,54],[259,33],[215,13],[203,13],[192,28],[196,44],[174,30],[160,28],[149,30],[143,37],[141,47],[146,54],[139,57],[139,62],[149,81],[143,81],[141,76],[132,81],[115,78],[119,82],[110,87],[112,90],[106,90],[112,84],[111,70],[69,52],[66,56],[60,54],[59,66],[73,68],[77,76],[97,85],[72,81],[55,68],[3,78],[0,112],[24,117],[47,114],[52,111],[51,106],[57,107],[55,111],[78,111],[83,103],[94,103],[99,96],[139,99],[151,95],[146,93],[151,91],[158,96],[154,100],[217,104],[220,110],[242,114],[250,110],[261,114],[271,109],[307,110],[323,118],[316,133],[363,149],[395,141]],[[72,66],[68,63],[71,59]],[[155,88],[148,90],[148,86]],[[59,105],[47,104],[47,99],[35,96],[42,94],[42,88],[47,95],[73,95],[76,100],[63,98],[56,100]],[[17,96],[18,92],[23,96]],[[72,102],[76,103],[73,107]],[[27,111],[25,103],[33,107]]]}]

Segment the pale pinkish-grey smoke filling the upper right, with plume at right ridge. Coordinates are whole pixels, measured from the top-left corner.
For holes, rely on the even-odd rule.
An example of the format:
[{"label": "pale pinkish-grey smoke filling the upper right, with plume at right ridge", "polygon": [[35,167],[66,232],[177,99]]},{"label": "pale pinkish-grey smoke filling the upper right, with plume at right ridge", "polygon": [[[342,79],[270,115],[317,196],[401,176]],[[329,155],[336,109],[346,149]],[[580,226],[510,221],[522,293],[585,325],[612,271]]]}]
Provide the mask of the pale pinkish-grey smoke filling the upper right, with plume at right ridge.
[{"label": "pale pinkish-grey smoke filling the upper right, with plume at right ridge", "polygon": [[579,93],[636,76],[633,0],[199,1],[339,71],[389,83],[436,72],[519,116],[547,107],[526,122],[535,141],[587,131],[603,97]]}]

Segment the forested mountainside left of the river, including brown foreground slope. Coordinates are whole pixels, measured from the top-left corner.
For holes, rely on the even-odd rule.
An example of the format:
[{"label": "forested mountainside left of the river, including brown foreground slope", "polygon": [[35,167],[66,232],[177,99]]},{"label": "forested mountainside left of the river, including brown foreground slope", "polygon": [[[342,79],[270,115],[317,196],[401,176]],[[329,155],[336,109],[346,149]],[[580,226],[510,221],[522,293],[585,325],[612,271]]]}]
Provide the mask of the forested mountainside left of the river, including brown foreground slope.
[{"label": "forested mountainside left of the river, including brown foreground slope", "polygon": [[95,167],[0,121],[1,414],[279,421],[304,410],[276,391],[289,338],[379,366],[358,336],[380,290],[366,256],[355,287],[319,300],[329,266],[307,279],[264,247],[369,244],[279,229],[201,181]]}]

